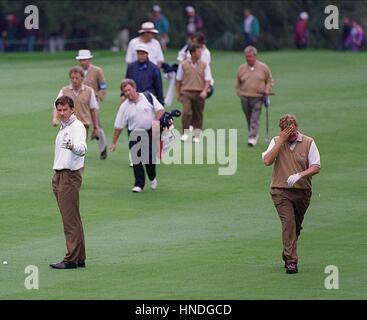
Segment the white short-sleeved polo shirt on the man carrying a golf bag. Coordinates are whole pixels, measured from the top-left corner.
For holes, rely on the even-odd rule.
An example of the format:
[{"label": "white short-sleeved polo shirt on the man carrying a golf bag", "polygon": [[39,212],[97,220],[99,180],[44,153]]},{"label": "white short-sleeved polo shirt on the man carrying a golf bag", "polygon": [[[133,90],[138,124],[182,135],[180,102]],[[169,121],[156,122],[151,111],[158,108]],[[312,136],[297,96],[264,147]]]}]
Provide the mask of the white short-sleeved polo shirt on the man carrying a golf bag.
[{"label": "white short-sleeved polo shirt on the man carrying a golf bag", "polygon": [[152,121],[156,120],[155,113],[164,110],[164,107],[152,95],[153,105],[147,100],[143,93],[139,93],[137,103],[130,100],[124,101],[116,115],[115,128],[128,128],[149,130],[152,128]]}]

